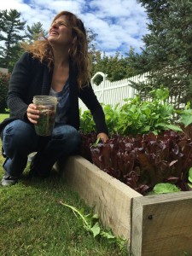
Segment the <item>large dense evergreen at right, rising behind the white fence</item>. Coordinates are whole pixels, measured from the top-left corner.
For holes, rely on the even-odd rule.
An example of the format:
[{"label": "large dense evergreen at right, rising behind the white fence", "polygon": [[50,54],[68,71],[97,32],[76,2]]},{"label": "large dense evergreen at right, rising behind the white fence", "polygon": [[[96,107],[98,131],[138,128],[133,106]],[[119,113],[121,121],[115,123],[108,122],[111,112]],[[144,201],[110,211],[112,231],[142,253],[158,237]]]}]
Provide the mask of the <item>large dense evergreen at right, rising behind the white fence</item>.
[{"label": "large dense evergreen at right, rising behind the white fence", "polygon": [[192,102],[191,1],[137,2],[147,10],[149,33],[143,37],[142,54],[129,55],[133,67],[140,73],[151,72],[149,84],[152,87],[163,84],[169,88],[171,96],[180,96],[177,104]]}]

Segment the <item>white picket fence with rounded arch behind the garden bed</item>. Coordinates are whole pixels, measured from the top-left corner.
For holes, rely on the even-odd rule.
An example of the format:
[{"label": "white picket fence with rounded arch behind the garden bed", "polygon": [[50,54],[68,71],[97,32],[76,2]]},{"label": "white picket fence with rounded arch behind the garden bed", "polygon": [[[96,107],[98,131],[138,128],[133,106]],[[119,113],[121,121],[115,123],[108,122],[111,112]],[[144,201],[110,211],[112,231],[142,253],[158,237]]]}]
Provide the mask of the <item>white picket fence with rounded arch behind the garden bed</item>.
[{"label": "white picket fence with rounded arch behind the garden bed", "polygon": [[[91,79],[91,84],[99,102],[104,104],[110,104],[113,107],[117,103],[119,103],[120,107],[125,103],[124,99],[134,98],[137,94],[137,90],[131,86],[131,81],[136,83],[147,81],[148,74],[149,73],[144,73],[142,75],[137,75],[129,79],[122,79],[119,81],[110,82],[107,79],[107,74],[98,72]],[[96,85],[94,83],[94,79],[96,79],[96,76],[98,75],[102,76],[103,80],[101,84]],[[79,108],[82,109],[82,112],[87,109],[81,100],[79,100]]]}]

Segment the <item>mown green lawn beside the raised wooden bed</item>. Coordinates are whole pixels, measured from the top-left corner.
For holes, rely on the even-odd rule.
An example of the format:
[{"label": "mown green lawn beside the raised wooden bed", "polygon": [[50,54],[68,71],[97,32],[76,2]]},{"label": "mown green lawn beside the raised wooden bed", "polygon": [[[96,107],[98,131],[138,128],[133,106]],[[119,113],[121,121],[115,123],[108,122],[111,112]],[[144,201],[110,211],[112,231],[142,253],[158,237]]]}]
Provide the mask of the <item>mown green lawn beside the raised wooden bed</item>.
[{"label": "mown green lawn beside the raised wooden bed", "polygon": [[[2,164],[0,156],[0,178]],[[1,256],[128,255],[107,240],[94,239],[73,212],[59,204],[63,201],[91,212],[56,172],[45,180],[29,179],[27,172],[28,166],[15,186],[0,187]]]}]

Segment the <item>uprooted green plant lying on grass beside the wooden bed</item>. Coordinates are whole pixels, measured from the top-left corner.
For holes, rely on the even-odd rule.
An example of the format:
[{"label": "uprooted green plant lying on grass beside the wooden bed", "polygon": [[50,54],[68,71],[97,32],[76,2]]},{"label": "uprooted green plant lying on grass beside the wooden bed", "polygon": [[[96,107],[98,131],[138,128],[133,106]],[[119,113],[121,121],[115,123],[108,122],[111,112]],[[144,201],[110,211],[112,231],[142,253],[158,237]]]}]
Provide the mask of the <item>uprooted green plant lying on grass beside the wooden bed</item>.
[{"label": "uprooted green plant lying on grass beside the wooden bed", "polygon": [[113,236],[111,231],[107,232],[102,230],[97,214],[91,215],[89,213],[85,215],[83,208],[78,210],[76,207],[67,205],[62,201],[60,201],[60,204],[64,207],[70,208],[74,215],[79,218],[80,224],[83,225],[84,229],[90,232],[94,237],[101,236],[105,239],[108,239],[109,243],[116,243],[120,250],[125,248],[126,240],[124,238]]}]

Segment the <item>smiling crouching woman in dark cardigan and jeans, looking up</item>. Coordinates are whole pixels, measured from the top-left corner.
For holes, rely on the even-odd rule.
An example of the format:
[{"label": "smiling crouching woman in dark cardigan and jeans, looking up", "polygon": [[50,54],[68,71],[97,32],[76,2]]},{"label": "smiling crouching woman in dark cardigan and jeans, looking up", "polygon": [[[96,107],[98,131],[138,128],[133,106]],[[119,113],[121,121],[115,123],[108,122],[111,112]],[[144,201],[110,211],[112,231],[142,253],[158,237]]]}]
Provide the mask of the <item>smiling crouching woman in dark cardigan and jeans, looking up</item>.
[{"label": "smiling crouching woman in dark cardigan and jeans, looking up", "polygon": [[[39,137],[34,124],[39,111],[33,96],[50,95],[58,99],[55,127],[50,137]],[[1,124],[5,175],[2,185],[13,185],[26,167],[27,155],[38,152],[30,173],[47,177],[56,160],[77,153],[79,100],[90,109],[97,137],[105,143],[108,129],[102,107],[90,85],[90,64],[84,24],[63,11],[55,16],[49,38],[26,46],[15,64],[9,83],[9,119]]]}]

